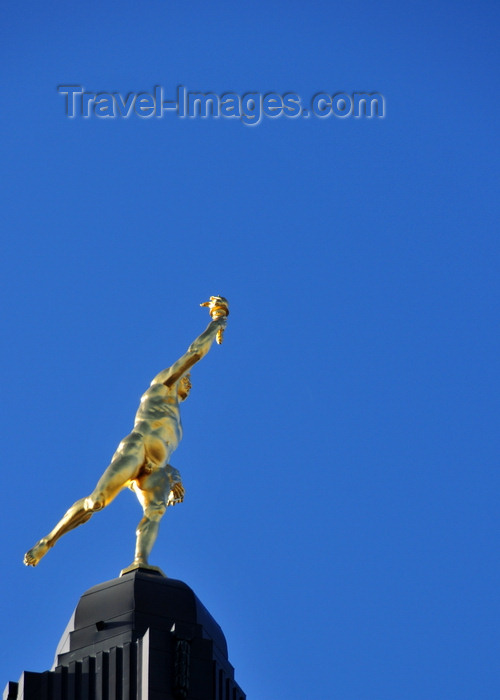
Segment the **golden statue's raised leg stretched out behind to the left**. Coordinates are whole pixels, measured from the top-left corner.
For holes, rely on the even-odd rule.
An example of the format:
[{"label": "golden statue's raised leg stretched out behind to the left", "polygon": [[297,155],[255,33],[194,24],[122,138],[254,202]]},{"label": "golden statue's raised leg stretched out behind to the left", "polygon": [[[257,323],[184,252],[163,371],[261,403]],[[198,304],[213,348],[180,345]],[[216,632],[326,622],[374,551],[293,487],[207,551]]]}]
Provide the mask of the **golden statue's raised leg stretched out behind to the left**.
[{"label": "golden statue's raised leg stretched out behind to the left", "polygon": [[36,566],[63,535],[86,523],[95,511],[107,506],[128,484],[144,462],[142,436],[132,433],[118,446],[111,464],[87,498],[80,498],[66,511],[55,528],[39,540],[24,556],[27,566]]}]

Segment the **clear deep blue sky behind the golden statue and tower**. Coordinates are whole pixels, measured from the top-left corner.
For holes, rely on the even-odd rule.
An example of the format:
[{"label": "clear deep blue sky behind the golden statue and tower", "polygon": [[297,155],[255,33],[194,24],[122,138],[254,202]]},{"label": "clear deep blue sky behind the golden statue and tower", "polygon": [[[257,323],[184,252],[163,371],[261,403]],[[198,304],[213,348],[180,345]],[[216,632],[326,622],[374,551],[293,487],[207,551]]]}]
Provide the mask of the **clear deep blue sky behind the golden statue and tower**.
[{"label": "clear deep blue sky behind the golden statue and tower", "polygon": [[[27,569],[150,379],[193,371],[152,563],[251,700],[500,697],[495,2],[9,4],[0,690],[131,558],[131,492]],[[384,119],[70,120],[94,92],[377,91]],[[4,640],[5,641],[5,640]]]}]

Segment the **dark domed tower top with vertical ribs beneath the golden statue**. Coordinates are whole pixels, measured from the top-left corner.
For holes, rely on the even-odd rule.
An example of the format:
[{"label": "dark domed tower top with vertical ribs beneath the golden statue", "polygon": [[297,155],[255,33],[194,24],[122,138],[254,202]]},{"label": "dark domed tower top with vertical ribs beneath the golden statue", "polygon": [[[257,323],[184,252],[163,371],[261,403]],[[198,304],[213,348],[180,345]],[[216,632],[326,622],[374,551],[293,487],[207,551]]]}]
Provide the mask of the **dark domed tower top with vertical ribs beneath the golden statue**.
[{"label": "dark domed tower top with vertical ribs beneath the golden statue", "polygon": [[135,569],[80,598],[44,673],[4,700],[245,700],[221,628],[193,591]]}]

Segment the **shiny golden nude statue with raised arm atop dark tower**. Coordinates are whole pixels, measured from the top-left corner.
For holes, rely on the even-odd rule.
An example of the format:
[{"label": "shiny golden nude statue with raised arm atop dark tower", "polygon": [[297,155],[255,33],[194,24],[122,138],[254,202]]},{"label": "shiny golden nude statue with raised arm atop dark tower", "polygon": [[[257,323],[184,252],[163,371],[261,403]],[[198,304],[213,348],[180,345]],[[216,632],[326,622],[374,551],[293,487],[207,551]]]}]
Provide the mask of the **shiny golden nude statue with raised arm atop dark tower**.
[{"label": "shiny golden nude statue with raised arm atop dark tower", "polygon": [[134,561],[122,573],[138,568],[158,570],[149,566],[148,558],[160,520],[168,506],[184,500],[180,474],[168,461],[182,438],[180,403],[191,389],[189,370],[207,354],[214,340],[222,342],[229,315],[227,299],[221,296],[210,297],[201,306],[209,307],[212,321],[177,362],[156,375],[141,397],[132,432],[118,445],[95,489],[76,501],[55,528],[25,554],[27,566],[36,566],[60,537],[86,523],[128,486],[136,494],[144,517],[136,531]]}]

